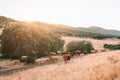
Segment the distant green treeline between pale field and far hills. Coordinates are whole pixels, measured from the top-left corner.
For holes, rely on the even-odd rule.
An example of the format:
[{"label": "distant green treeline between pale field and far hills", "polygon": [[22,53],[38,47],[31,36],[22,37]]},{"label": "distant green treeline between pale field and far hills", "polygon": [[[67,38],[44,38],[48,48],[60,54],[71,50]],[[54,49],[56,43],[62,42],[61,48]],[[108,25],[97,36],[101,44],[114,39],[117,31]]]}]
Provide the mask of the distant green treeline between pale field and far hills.
[{"label": "distant green treeline between pale field and far hills", "polygon": [[56,33],[59,33],[65,36],[86,37],[86,38],[93,38],[93,39],[106,39],[106,38],[120,39],[119,36],[114,36],[109,34],[98,34],[98,33],[92,33],[92,32],[82,32],[82,31],[75,31],[75,30],[60,31],[60,32],[58,31]]}]

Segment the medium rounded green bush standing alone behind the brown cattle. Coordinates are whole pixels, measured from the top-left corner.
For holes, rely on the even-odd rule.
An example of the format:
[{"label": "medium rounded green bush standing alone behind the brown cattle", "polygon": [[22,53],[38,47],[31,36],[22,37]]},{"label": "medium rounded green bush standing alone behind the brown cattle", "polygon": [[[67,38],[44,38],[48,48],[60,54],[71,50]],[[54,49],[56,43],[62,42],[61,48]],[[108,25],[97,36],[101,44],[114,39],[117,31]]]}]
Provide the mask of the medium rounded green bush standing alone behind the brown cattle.
[{"label": "medium rounded green bush standing alone behind the brown cattle", "polygon": [[67,51],[74,52],[76,50],[80,50],[82,53],[90,53],[91,50],[94,50],[92,44],[89,41],[73,41],[68,43]]}]

